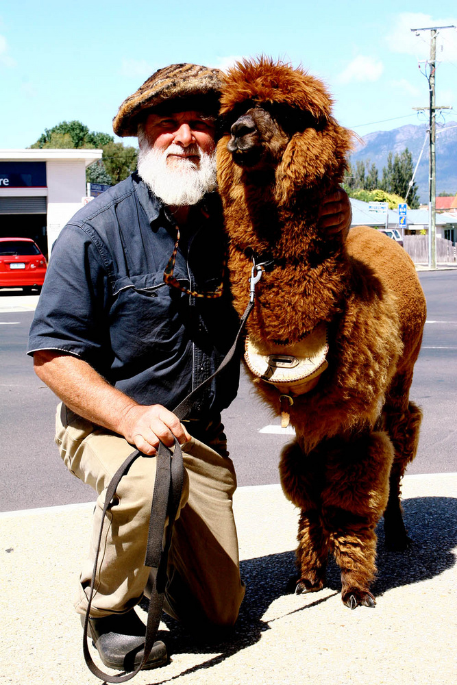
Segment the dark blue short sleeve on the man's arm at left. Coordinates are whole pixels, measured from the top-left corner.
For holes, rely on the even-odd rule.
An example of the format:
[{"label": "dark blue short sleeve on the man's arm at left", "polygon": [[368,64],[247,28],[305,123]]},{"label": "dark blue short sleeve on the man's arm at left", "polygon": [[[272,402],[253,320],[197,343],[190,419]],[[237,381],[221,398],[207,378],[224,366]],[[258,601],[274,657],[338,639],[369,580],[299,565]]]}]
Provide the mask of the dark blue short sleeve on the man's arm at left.
[{"label": "dark blue short sleeve on the man's arm at left", "polygon": [[27,354],[62,350],[82,358],[99,373],[109,368],[106,265],[106,256],[101,256],[83,227],[64,227],[51,252]]}]

